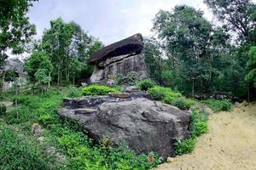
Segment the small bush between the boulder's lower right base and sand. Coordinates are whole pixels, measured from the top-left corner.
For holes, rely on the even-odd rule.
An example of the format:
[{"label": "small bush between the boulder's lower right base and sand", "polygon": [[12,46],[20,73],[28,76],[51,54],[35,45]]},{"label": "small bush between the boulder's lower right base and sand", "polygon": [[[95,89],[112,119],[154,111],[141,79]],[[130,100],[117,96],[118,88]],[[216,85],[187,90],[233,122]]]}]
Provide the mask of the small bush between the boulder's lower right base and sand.
[{"label": "small bush between the boulder's lower right base and sand", "polygon": [[195,149],[196,139],[177,140],[175,143],[175,155],[188,154]]}]

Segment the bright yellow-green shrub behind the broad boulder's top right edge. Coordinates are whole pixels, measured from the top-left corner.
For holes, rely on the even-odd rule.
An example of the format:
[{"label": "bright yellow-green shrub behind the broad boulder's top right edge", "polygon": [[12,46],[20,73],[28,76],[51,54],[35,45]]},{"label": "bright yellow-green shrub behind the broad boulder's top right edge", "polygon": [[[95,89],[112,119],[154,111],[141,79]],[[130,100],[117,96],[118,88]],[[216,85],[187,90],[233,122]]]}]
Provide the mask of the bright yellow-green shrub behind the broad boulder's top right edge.
[{"label": "bright yellow-green shrub behind the broad boulder's top right edge", "polygon": [[155,86],[154,88],[148,88],[148,94],[150,94],[155,100],[165,99],[166,95],[173,95],[171,88],[163,88]]}]

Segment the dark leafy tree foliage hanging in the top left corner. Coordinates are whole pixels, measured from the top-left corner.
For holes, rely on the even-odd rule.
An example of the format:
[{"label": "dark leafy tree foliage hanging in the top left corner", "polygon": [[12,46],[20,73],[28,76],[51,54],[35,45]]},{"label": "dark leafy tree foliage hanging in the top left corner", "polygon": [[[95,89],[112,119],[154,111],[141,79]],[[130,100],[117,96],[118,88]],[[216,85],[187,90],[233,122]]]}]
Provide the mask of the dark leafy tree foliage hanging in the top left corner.
[{"label": "dark leafy tree foliage hanging in the top left corner", "polygon": [[36,33],[35,26],[30,24],[26,16],[32,2],[33,0],[0,1],[0,70],[8,57],[6,51],[22,53],[25,44]]}]

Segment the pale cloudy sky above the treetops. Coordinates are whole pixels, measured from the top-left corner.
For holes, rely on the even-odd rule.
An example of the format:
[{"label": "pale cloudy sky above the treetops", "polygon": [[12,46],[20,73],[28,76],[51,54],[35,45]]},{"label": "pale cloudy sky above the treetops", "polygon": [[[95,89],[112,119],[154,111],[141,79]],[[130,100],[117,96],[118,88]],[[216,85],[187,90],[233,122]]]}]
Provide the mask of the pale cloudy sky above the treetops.
[{"label": "pale cloudy sky above the treetops", "polygon": [[178,4],[200,8],[212,20],[203,0],[39,0],[28,16],[37,26],[37,38],[49,28],[49,20],[61,17],[77,22],[84,31],[108,45],[137,32],[150,36],[154,15],[160,9],[171,10]]}]

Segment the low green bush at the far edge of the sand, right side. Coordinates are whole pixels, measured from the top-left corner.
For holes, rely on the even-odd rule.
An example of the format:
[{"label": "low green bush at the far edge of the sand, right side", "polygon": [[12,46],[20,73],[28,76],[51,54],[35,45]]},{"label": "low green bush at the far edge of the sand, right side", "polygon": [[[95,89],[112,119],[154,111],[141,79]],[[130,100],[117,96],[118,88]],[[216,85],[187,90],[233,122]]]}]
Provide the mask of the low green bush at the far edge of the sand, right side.
[{"label": "low green bush at the far edge of the sand, right side", "polygon": [[232,103],[228,99],[207,99],[205,103],[215,113],[219,111],[231,111],[232,109]]}]

